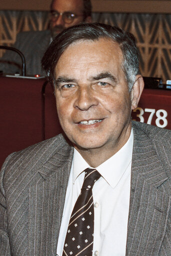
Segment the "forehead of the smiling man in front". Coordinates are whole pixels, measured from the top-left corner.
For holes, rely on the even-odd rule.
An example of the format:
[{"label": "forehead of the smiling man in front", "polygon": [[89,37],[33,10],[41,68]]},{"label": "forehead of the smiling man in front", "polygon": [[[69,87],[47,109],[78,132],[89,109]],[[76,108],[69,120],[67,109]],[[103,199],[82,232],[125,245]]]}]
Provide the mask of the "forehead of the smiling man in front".
[{"label": "forehead of the smiling man in front", "polygon": [[[55,73],[83,76],[100,72],[122,72],[122,52],[117,43],[110,39],[98,41],[77,41],[72,43],[60,56]],[[66,74],[67,72],[67,74]]]}]

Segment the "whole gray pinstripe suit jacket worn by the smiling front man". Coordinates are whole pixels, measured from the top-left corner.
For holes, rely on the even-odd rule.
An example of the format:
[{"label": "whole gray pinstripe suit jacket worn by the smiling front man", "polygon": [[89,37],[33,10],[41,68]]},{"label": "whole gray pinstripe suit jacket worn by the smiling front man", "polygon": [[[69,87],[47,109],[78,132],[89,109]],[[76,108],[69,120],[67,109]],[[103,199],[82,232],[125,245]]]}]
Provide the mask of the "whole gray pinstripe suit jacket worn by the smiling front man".
[{"label": "whole gray pinstripe suit jacket worn by the smiling front man", "polygon": [[[170,256],[171,132],[141,123],[133,123],[133,132],[126,256]],[[60,134],[6,159],[1,256],[55,255],[72,154]]]}]

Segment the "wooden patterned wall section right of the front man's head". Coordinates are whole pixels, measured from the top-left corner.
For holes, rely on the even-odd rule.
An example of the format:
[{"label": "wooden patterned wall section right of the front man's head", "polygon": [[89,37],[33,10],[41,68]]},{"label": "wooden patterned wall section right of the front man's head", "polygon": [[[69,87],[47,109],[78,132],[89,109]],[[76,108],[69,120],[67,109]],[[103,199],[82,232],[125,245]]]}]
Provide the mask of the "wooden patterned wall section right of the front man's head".
[{"label": "wooden patterned wall section right of the front man's head", "polygon": [[171,79],[171,15],[94,14],[93,18],[135,36],[143,76]]}]

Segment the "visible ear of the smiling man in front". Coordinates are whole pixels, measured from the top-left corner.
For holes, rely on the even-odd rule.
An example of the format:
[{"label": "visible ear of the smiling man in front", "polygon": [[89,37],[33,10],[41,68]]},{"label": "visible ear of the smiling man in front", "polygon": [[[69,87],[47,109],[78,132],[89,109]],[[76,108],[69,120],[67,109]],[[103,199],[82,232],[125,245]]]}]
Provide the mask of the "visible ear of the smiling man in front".
[{"label": "visible ear of the smiling man in front", "polygon": [[136,76],[136,81],[131,90],[131,109],[135,109],[143,91],[144,82],[141,75]]}]

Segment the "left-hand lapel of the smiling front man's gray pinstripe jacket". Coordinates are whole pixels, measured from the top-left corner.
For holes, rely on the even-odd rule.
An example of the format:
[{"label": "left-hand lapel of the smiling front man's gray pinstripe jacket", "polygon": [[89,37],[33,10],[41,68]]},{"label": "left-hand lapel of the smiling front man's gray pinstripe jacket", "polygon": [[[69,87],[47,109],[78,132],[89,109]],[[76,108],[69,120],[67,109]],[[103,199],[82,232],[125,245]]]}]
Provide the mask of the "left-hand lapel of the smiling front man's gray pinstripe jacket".
[{"label": "left-hand lapel of the smiling front man's gray pinstripe jacket", "polygon": [[73,149],[58,149],[38,170],[29,188],[28,255],[56,255]]}]

